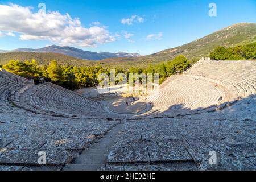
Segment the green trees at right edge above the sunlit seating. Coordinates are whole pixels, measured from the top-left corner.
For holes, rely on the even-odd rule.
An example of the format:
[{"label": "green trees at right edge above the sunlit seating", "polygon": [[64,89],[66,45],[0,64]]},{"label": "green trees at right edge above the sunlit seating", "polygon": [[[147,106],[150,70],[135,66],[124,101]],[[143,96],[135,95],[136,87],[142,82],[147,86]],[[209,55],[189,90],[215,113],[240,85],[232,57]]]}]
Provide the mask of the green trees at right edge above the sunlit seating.
[{"label": "green trees at right edge above the sunlit seating", "polygon": [[256,42],[244,46],[217,47],[210,53],[213,60],[253,60],[256,59]]}]

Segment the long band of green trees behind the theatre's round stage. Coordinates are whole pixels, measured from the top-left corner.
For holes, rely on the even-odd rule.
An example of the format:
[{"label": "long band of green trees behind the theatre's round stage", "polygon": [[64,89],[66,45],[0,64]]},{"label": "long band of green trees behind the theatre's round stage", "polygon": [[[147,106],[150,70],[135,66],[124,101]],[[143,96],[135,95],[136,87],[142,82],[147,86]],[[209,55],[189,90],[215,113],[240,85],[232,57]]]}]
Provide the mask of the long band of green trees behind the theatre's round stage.
[{"label": "long band of green trees behind the theatre's round stage", "polygon": [[[124,73],[127,78],[129,73],[158,73],[159,82],[163,82],[166,77],[175,73],[181,73],[189,68],[188,59],[183,56],[177,56],[174,60],[162,62],[156,65],[148,65],[147,68],[130,67],[129,69],[114,68],[115,74]],[[39,77],[44,77],[46,81],[53,82],[67,89],[77,89],[89,86],[98,85],[98,75],[106,73],[110,75],[110,69],[104,68],[101,65],[90,67],[75,66],[75,65],[60,65],[53,60],[48,65],[40,65],[35,60],[32,61],[17,61],[11,60],[3,66],[7,71],[13,72],[19,76],[28,79],[34,79],[38,82]]]}]

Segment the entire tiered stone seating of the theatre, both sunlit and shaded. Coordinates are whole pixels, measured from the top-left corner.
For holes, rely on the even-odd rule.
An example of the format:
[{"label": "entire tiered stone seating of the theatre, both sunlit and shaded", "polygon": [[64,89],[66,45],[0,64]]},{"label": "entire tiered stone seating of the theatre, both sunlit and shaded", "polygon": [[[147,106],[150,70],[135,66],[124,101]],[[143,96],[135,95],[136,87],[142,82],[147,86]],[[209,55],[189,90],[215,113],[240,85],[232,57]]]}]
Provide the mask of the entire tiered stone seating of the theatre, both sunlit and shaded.
[{"label": "entire tiered stone seating of the theatre, both sunlit and shaded", "polygon": [[[168,78],[147,98],[149,117],[127,118],[101,169],[256,170],[255,64],[202,59]],[[0,171],[60,170],[119,123],[101,119],[110,113],[98,102],[1,70],[0,105]],[[39,151],[47,166],[38,166]]]}]

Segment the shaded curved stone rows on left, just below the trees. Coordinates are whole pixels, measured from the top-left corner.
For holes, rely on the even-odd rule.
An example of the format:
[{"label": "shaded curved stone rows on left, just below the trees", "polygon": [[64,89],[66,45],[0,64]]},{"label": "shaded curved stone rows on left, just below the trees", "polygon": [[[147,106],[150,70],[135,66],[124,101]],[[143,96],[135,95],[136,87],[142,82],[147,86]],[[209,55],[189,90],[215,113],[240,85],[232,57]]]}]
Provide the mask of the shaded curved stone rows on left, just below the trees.
[{"label": "shaded curved stone rows on left, just below the trees", "polygon": [[[0,71],[0,105],[3,113],[30,111],[58,117],[106,118],[102,105],[55,84],[34,85],[33,80]],[[114,117],[114,116],[113,116]]]}]

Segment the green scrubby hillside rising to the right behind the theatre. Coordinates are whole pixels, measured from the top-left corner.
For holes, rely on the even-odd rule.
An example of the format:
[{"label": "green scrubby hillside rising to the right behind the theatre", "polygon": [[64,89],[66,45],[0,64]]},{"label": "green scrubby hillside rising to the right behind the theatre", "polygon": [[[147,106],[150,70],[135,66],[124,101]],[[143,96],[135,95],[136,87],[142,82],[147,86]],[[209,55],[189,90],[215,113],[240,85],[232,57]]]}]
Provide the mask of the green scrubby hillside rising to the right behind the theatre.
[{"label": "green scrubby hillside rising to the right behind the theatre", "polygon": [[197,39],[183,46],[166,49],[158,53],[148,56],[141,56],[133,59],[114,58],[105,59],[105,63],[130,62],[130,64],[138,63],[158,63],[160,61],[171,60],[177,55],[184,55],[191,61],[199,60],[203,56],[209,56],[209,53],[218,46],[232,47],[237,44],[245,44],[247,42],[256,41],[256,23],[238,23],[207,35],[201,39]]}]

